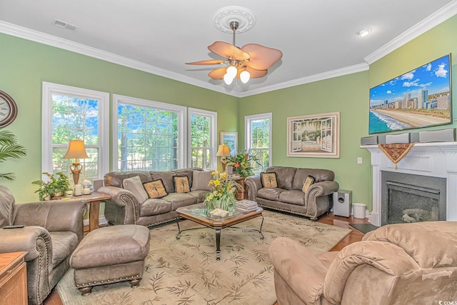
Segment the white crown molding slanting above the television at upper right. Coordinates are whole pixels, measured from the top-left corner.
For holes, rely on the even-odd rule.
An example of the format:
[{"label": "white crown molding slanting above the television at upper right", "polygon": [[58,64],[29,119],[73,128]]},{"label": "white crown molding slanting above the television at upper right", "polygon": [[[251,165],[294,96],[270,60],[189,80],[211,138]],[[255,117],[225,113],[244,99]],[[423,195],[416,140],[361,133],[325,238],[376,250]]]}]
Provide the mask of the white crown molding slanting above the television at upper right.
[{"label": "white crown molding slanting above the television at upper right", "polygon": [[392,39],[387,44],[384,44],[381,48],[363,58],[363,60],[365,60],[368,64],[373,64],[373,62],[383,58],[416,37],[421,36],[426,31],[433,29],[433,27],[441,24],[455,14],[457,14],[457,0],[449,2],[446,6],[438,9],[438,11],[434,12],[426,19],[423,19],[418,24],[411,26],[411,28],[396,36],[396,38]]}]

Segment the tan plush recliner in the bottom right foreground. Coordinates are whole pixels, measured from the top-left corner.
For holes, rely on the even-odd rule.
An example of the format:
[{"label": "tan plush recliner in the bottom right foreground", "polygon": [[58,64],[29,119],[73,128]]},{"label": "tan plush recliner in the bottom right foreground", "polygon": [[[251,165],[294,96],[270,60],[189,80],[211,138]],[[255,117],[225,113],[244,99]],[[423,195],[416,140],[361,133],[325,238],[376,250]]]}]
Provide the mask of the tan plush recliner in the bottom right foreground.
[{"label": "tan plush recliner in the bottom right foreground", "polygon": [[278,238],[269,256],[279,305],[457,300],[455,221],[381,226],[339,252],[320,255]]}]

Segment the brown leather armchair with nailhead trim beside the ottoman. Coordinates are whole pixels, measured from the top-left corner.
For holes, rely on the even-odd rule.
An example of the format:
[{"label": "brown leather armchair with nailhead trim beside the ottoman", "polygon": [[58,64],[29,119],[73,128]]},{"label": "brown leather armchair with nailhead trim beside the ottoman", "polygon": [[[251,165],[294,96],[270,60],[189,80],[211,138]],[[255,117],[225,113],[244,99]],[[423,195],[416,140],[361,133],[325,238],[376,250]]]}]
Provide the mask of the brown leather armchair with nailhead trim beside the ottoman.
[{"label": "brown leather armchair with nailhead trim beside the ottoman", "polygon": [[85,200],[37,201],[14,204],[14,196],[0,185],[0,252],[27,251],[29,304],[41,304],[69,269],[69,259],[83,239]]}]

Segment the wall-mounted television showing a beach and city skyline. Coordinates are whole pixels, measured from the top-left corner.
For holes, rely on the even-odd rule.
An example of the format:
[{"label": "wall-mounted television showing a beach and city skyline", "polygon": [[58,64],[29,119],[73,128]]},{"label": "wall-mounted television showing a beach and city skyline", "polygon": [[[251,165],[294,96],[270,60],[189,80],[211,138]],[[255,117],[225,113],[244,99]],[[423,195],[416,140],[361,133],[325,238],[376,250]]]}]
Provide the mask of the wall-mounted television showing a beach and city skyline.
[{"label": "wall-mounted television showing a beach and city skyline", "polygon": [[451,55],[370,89],[369,134],[451,124]]}]

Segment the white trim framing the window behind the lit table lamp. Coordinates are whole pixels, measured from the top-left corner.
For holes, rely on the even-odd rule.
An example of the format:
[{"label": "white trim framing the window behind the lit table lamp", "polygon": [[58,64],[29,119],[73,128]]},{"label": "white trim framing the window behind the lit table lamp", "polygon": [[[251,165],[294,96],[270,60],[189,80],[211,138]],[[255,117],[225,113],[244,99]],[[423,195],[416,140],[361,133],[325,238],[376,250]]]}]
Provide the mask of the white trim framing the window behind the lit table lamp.
[{"label": "white trim framing the window behind the lit table lamp", "polygon": [[43,81],[41,99],[41,172],[52,173],[52,94],[97,99],[99,104],[99,177],[109,171],[109,93]]}]

